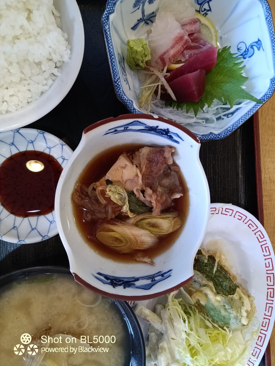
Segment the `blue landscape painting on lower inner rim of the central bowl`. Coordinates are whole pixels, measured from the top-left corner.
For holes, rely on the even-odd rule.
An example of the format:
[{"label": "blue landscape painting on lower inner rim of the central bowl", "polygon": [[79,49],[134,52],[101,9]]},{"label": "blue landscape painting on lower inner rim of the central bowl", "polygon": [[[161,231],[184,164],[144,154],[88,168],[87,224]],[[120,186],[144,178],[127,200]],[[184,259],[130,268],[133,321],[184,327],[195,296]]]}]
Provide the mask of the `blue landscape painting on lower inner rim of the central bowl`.
[{"label": "blue landscape painting on lower inner rim of the central bowl", "polygon": [[[166,280],[166,278],[170,277],[172,273],[172,269],[169,269],[166,272],[157,272],[153,275],[141,276],[141,277],[117,277],[106,275],[105,273],[97,272],[96,275],[93,275],[96,279],[101,281],[105,285],[111,285],[113,288],[123,287],[123,288],[141,288],[143,290],[150,290],[155,284],[160,281]],[[142,281],[142,284],[136,285],[136,282]],[[145,281],[145,283],[144,283]],[[150,281],[150,282],[148,282]]]}]

